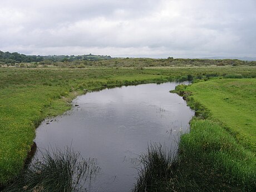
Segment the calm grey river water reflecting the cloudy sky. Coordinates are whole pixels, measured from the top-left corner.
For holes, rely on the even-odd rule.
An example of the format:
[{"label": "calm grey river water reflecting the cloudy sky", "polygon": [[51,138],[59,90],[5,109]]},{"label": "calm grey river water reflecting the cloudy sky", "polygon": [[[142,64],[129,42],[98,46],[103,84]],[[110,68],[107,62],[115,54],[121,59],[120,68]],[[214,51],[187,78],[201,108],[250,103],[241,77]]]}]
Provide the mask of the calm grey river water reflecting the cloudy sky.
[{"label": "calm grey river water reflecting the cloudy sky", "polygon": [[169,93],[176,85],[123,86],[78,96],[70,111],[42,122],[37,147],[72,144],[83,157],[96,158],[101,171],[88,191],[130,191],[137,176],[134,161],[147,145],[160,142],[176,148],[180,131],[189,128],[194,112]]}]

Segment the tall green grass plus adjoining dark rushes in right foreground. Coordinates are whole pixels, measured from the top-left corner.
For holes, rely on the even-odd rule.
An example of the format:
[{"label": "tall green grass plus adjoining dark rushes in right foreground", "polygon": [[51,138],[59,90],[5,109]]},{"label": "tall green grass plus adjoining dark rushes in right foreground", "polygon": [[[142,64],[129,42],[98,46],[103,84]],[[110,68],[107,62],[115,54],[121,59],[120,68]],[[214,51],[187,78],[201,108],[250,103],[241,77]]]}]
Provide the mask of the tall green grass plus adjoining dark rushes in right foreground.
[{"label": "tall green grass plus adjoining dark rushes in right foreground", "polygon": [[256,159],[216,122],[194,118],[179,150],[151,144],[133,192],[255,191]]}]

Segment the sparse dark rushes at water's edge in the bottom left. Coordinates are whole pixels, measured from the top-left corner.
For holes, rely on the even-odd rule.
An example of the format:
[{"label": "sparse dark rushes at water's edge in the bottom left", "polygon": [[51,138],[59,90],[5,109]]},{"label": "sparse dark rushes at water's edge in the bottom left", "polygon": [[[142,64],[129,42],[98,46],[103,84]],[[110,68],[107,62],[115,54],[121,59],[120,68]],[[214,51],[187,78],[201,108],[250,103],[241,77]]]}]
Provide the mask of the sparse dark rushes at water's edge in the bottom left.
[{"label": "sparse dark rushes at water's edge in the bottom left", "polygon": [[95,159],[83,159],[79,152],[69,147],[42,152],[42,159],[35,160],[24,169],[3,192],[78,192],[99,174]]}]

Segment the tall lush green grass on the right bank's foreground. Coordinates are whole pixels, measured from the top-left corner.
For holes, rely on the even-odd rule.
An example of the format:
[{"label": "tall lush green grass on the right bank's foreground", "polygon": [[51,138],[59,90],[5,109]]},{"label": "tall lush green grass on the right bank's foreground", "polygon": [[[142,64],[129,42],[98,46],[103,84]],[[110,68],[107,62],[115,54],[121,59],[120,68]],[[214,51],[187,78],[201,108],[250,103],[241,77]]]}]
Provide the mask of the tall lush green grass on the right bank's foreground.
[{"label": "tall lush green grass on the right bank's foreground", "polygon": [[[179,191],[256,189],[254,152],[244,149],[217,122],[194,118],[190,132],[181,136],[179,150]],[[197,186],[194,190],[191,190],[191,182]]]}]

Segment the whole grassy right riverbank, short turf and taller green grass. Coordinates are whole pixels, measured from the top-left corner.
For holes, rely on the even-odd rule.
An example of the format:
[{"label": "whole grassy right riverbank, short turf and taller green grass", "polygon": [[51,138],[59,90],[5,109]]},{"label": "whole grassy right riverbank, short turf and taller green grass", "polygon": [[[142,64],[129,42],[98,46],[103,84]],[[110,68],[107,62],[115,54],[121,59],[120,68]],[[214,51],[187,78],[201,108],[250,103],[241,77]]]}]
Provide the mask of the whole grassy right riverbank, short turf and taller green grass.
[{"label": "whole grassy right riverbank, short turf and taller green grass", "polygon": [[173,91],[197,116],[180,139],[179,190],[255,191],[255,85],[255,78],[210,80]]}]

